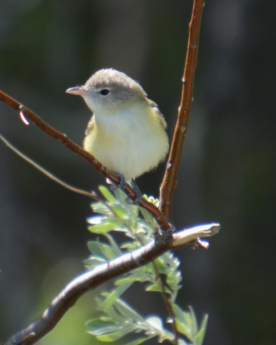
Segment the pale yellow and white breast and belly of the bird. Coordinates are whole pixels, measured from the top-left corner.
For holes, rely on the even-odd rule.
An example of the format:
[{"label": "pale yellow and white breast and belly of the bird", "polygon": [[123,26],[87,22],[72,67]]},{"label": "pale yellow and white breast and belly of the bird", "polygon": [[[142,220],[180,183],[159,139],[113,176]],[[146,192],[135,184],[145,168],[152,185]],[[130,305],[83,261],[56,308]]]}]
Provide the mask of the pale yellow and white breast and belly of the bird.
[{"label": "pale yellow and white breast and belly of the bird", "polygon": [[85,149],[107,168],[126,180],[144,174],[165,159],[168,137],[152,108],[140,107],[110,114],[95,114],[95,130],[85,140]]}]

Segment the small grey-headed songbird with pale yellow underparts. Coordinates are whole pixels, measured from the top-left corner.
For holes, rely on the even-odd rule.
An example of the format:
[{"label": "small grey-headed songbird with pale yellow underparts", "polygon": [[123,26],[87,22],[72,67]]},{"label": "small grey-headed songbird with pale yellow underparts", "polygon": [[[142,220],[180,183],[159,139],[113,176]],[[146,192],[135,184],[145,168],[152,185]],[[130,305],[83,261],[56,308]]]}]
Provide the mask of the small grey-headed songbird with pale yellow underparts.
[{"label": "small grey-headed songbird with pale yellow underparts", "polygon": [[92,111],[83,147],[108,169],[130,181],[164,161],[167,124],[138,82],[115,69],[101,69],[66,92],[80,95]]}]

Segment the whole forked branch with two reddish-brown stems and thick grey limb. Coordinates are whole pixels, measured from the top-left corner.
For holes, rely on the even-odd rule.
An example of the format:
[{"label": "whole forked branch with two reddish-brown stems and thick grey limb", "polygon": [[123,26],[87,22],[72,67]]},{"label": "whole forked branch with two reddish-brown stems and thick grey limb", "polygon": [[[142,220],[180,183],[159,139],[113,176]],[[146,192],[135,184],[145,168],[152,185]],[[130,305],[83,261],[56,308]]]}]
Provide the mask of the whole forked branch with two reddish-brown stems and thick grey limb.
[{"label": "whole forked branch with two reddish-brown stems and thick grey limb", "polygon": [[[219,231],[218,224],[209,224],[171,233],[167,231],[171,228],[167,219],[172,219],[172,198],[177,183],[177,173],[182,153],[183,142],[187,133],[187,125],[190,114],[190,107],[193,100],[194,76],[197,63],[198,38],[204,0],[194,0],[193,12],[189,24],[189,40],[187,56],[183,77],[183,90],[181,103],[178,112],[177,124],[172,140],[168,163],[164,179],[160,188],[160,210],[144,198],[141,199],[139,206],[147,209],[157,220],[163,234],[149,245],[136,250],[131,254],[124,255],[108,265],[97,267],[93,271],[82,274],[73,280],[65,289],[52,301],[45,313],[21,332],[12,336],[4,345],[30,345],[37,342],[53,327],[55,327],[62,316],[72,307],[78,298],[90,289],[94,289],[107,280],[127,273],[130,270],[146,265],[167,250],[180,248],[188,243],[195,241],[196,245],[207,246],[199,241],[200,237],[212,236]],[[119,184],[121,177],[103,166],[89,152],[72,142],[66,135],[49,126],[30,109],[24,107],[20,102],[14,100],[4,92],[0,91],[0,100],[8,104],[13,109],[20,112],[21,118],[31,120],[35,125],[42,129],[46,134],[58,140],[75,154],[85,158],[103,176],[107,177],[115,184]],[[127,196],[134,200],[136,192],[125,185],[121,188]]]}]

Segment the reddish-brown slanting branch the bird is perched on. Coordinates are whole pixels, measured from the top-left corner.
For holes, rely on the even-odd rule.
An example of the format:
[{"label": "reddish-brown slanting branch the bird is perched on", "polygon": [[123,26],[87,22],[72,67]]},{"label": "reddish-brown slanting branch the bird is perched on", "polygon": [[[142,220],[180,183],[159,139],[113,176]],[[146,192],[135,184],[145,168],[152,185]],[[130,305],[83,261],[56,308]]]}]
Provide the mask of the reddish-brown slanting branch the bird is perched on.
[{"label": "reddish-brown slanting branch the bird is perched on", "polygon": [[[38,126],[43,132],[48,134],[50,137],[56,139],[57,141],[61,142],[62,145],[66,146],[69,150],[77,154],[78,156],[86,159],[93,167],[98,170],[103,176],[107,177],[111,182],[115,183],[116,185],[120,184],[121,177],[116,175],[113,171],[107,169],[104,165],[101,164],[98,159],[92,156],[88,151],[84,150],[75,142],[67,138],[65,134],[57,131],[55,128],[49,126],[45,121],[43,121],[38,115],[34,114],[33,111],[23,106],[20,102],[13,99],[6,93],[0,90],[0,100],[9,105],[11,108],[20,112],[20,116],[27,117],[31,120],[36,126]],[[125,184],[121,187],[121,189],[126,193],[126,195],[135,200],[137,194],[135,190],[133,190],[129,184]],[[168,223],[166,217],[161,213],[161,211],[156,207],[154,204],[150,203],[144,198],[141,198],[139,202],[139,206],[148,210],[156,219],[157,223],[159,224],[161,230],[166,231],[170,229],[170,224]]]}]

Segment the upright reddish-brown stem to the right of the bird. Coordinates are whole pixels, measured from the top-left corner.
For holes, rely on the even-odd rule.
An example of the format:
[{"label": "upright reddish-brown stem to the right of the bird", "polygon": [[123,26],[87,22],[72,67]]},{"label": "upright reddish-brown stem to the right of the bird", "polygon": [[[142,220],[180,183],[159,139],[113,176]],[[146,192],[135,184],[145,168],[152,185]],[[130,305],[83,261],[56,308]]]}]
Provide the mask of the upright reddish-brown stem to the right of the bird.
[{"label": "upright reddish-brown stem to the right of the bird", "polygon": [[193,101],[194,78],[197,64],[198,39],[204,0],[194,0],[191,21],[189,24],[189,40],[186,55],[183,88],[178,119],[172,139],[170,154],[165,175],[160,187],[160,210],[172,219],[172,198],[177,184],[177,173],[181,159],[183,142],[187,133],[191,103]]}]

